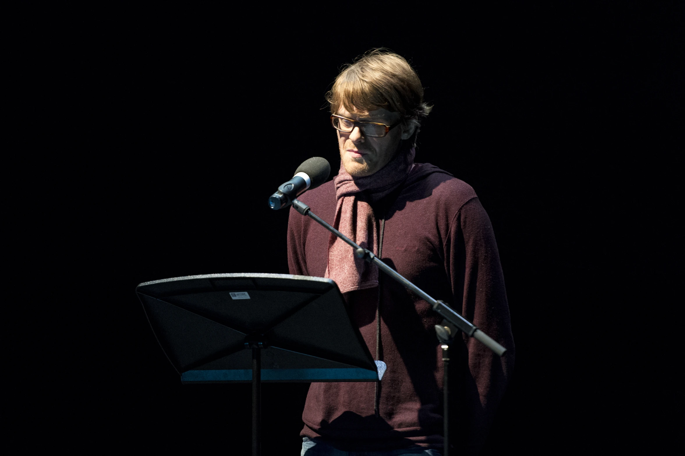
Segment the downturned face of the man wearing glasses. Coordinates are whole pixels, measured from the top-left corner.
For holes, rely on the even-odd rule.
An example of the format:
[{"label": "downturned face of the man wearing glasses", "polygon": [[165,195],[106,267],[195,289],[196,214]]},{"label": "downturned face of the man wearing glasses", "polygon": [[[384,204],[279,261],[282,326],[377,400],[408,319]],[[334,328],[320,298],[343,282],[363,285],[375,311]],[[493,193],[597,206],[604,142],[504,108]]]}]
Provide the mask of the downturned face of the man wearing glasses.
[{"label": "downturned face of the man wearing glasses", "polygon": [[[390,112],[383,108],[370,112],[351,113],[345,107],[340,106],[336,114],[351,118],[353,121],[377,122],[386,125],[393,125],[400,118],[397,112]],[[343,160],[345,170],[352,177],[370,176],[386,166],[395,156],[400,140],[408,139],[411,136],[411,133],[408,134],[402,125],[397,125],[388,131],[388,134],[383,138],[364,136],[359,127],[354,127],[349,133],[336,131],[338,131],[340,159]]]}]

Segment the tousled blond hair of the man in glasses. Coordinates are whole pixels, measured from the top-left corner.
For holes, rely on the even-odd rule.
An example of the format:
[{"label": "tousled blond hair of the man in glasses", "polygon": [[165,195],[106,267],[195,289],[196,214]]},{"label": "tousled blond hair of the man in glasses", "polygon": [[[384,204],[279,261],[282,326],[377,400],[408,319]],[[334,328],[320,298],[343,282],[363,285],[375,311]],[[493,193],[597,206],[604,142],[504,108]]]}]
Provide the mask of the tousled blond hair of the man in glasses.
[{"label": "tousled blond hair of the man in glasses", "polygon": [[401,56],[371,49],[343,68],[326,94],[331,112],[384,108],[398,112],[404,125],[415,125],[410,144],[416,145],[421,121],[433,109],[423,101],[423,86],[414,68]]}]

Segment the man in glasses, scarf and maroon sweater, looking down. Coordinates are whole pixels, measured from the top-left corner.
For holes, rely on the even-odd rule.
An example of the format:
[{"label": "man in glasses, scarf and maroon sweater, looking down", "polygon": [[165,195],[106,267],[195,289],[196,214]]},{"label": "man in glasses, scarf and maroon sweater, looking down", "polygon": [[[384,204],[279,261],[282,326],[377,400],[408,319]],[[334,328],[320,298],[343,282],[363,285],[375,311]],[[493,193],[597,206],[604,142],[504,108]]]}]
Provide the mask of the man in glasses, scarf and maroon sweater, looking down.
[{"label": "man in glasses, scarf and maroon sweater, looking down", "polygon": [[[303,203],[442,299],[509,351],[502,359],[462,335],[453,344],[455,454],[475,454],[506,387],[514,343],[497,244],[473,188],[414,163],[430,112],[421,81],[394,53],[374,50],[347,66],[327,94],[340,170]],[[453,153],[453,152],[450,152]],[[443,363],[434,325],[442,318],[345,242],[291,210],[291,274],[329,277],[353,323],[387,370],[379,383],[312,383],[302,455],[438,455],[443,447]]]}]

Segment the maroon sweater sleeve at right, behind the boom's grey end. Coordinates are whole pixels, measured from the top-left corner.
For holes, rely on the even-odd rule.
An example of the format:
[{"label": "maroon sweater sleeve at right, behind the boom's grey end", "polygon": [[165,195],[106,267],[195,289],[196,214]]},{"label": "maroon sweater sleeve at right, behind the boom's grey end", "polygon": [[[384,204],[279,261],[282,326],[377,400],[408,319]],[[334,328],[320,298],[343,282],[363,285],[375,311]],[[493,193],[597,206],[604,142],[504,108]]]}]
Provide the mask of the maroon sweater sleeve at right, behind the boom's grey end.
[{"label": "maroon sweater sleeve at right, behind the boom's grey end", "polygon": [[[497,242],[490,218],[477,197],[469,199],[451,220],[445,243],[445,266],[454,303],[479,329],[508,349],[502,358],[473,338],[464,337],[461,372],[462,425],[457,435],[469,442],[466,454],[477,454],[487,437],[514,366],[514,339]],[[463,359],[463,358],[462,358]]]}]

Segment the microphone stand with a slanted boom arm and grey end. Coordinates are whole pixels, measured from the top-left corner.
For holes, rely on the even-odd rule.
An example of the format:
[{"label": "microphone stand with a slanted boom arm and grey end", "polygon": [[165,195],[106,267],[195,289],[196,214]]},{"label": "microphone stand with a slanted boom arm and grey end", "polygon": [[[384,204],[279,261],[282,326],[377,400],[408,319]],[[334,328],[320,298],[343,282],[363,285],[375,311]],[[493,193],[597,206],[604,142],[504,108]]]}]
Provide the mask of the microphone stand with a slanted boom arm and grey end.
[{"label": "microphone stand with a slanted boom arm and grey end", "polygon": [[[452,325],[457,327],[459,330],[464,331],[464,334],[468,335],[469,337],[474,338],[478,342],[481,342],[484,344],[488,349],[493,351],[498,356],[504,356],[507,349],[505,349],[503,346],[498,344],[493,338],[490,338],[489,335],[478,329],[473,323],[471,323],[469,320],[466,320],[466,318],[462,317],[458,312],[453,310],[449,305],[444,303],[443,301],[440,301],[439,299],[433,299],[432,296],[421,290],[421,288],[417,287],[414,285],[414,283],[411,283],[404,277],[402,277],[399,273],[397,273],[396,270],[393,268],[390,268],[387,264],[382,262],[376,255],[374,255],[373,252],[369,251],[369,249],[362,249],[362,247],[358,246],[355,242],[353,242],[350,238],[345,236],[343,233],[340,233],[337,229],[332,227],[331,225],[328,225],[324,220],[319,218],[319,216],[316,216],[311,210],[308,205],[305,203],[302,203],[301,201],[297,199],[292,200],[292,207],[295,207],[295,210],[302,214],[303,216],[308,216],[316,223],[319,223],[322,227],[333,233],[334,235],[338,236],[338,238],[342,239],[343,241],[347,242],[349,246],[351,246],[354,249],[354,254],[358,258],[363,258],[364,261],[375,264],[378,266],[380,270],[382,270],[384,273],[389,275],[390,277],[393,277],[396,281],[401,283],[405,288],[407,288],[410,292],[416,294],[416,296],[419,296],[421,299],[424,301],[427,301],[427,303],[430,303],[432,306],[433,310],[440,314],[440,316],[443,316],[445,320],[451,322]],[[438,335],[438,339],[441,342],[441,348],[443,349],[443,367],[445,369],[444,372],[444,385],[443,385],[443,424],[444,424],[444,433],[443,435],[444,442],[445,442],[445,448],[443,450],[443,456],[449,456],[449,426],[448,426],[448,408],[447,407],[447,398],[448,398],[448,388],[447,388],[447,368],[449,367],[449,342],[452,341],[451,334],[449,332],[449,327],[443,327],[440,325],[435,325],[436,328],[436,333]]]}]

